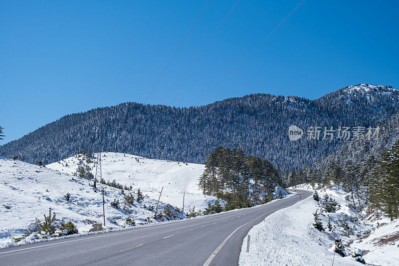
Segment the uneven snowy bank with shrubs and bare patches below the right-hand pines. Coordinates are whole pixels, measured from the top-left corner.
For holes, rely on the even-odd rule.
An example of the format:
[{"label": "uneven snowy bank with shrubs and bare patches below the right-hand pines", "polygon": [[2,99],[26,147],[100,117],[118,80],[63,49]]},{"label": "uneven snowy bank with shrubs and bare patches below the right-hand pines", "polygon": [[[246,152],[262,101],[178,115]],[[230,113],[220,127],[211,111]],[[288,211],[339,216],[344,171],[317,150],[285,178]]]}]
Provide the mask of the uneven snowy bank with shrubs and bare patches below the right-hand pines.
[{"label": "uneven snowy bank with shrubs and bare patches below the right-hand pines", "polygon": [[[295,188],[313,191],[313,187],[309,184],[298,185]],[[294,188],[293,188],[294,189]],[[320,218],[326,233],[318,233],[318,235],[330,235],[340,237],[345,243],[345,249],[350,256],[351,252],[360,249],[363,251],[363,259],[369,265],[399,265],[399,219],[390,221],[381,211],[367,208],[361,213],[348,207],[350,199],[346,199],[349,193],[345,193],[341,188],[320,188],[317,190],[319,196],[323,199],[327,194],[333,198],[341,208],[337,213],[322,213]],[[310,200],[313,206],[317,206],[316,201]],[[312,209],[313,208],[313,209]],[[315,207],[309,207],[309,210],[315,210]],[[319,208],[320,209],[320,208]],[[304,213],[299,215],[305,215]],[[307,213],[307,219],[313,222],[311,213]],[[342,221],[346,219],[353,233],[348,233],[343,229]],[[333,231],[327,229],[327,222],[330,220]],[[327,233],[328,232],[328,233]],[[314,241],[317,242],[316,239]],[[330,241],[332,243],[332,241]],[[332,245],[332,244],[331,244]],[[331,249],[330,249],[331,251]]]}]

